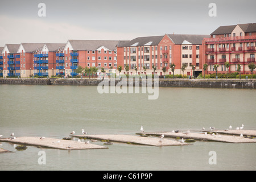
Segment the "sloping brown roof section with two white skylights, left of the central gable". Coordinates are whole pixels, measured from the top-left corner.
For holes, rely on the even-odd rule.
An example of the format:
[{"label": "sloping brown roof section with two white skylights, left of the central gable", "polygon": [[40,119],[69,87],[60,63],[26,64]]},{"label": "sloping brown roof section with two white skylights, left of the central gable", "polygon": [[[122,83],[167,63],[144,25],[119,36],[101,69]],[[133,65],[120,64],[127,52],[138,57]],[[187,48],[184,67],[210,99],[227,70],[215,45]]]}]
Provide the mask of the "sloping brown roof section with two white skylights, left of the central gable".
[{"label": "sloping brown roof section with two white skylights, left of the central gable", "polygon": [[162,36],[145,36],[130,41],[123,41],[118,47],[141,47],[141,46],[157,46],[163,39]]}]

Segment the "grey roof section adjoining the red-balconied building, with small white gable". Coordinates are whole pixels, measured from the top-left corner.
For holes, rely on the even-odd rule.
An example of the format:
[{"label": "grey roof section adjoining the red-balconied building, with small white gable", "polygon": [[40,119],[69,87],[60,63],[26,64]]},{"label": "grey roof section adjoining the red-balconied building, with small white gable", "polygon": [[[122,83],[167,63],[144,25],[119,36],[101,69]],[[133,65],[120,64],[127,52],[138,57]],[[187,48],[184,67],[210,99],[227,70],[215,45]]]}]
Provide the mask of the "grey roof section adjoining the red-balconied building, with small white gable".
[{"label": "grey roof section adjoining the red-balconied building, with small white gable", "polygon": [[210,35],[185,35],[185,34],[168,34],[175,44],[184,44],[189,42],[194,45],[201,45],[204,38],[210,38]]}]

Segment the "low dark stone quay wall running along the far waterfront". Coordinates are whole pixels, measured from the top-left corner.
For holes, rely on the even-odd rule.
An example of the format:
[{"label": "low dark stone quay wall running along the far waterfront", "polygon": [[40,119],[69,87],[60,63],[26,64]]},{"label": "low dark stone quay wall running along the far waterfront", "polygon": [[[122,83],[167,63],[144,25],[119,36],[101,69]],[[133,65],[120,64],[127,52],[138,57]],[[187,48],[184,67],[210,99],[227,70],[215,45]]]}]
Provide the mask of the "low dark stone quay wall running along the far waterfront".
[{"label": "low dark stone quay wall running along the far waterfront", "polygon": [[[155,80],[133,80],[133,86],[152,85]],[[89,78],[1,78],[0,84],[10,85],[77,85],[77,86],[98,86],[102,80]],[[106,82],[105,85],[117,85],[120,80]],[[256,80],[235,80],[235,79],[159,79],[159,87],[184,87],[184,88],[237,88],[255,89]],[[120,84],[120,83],[119,83]],[[127,80],[127,86],[129,81]]]}]

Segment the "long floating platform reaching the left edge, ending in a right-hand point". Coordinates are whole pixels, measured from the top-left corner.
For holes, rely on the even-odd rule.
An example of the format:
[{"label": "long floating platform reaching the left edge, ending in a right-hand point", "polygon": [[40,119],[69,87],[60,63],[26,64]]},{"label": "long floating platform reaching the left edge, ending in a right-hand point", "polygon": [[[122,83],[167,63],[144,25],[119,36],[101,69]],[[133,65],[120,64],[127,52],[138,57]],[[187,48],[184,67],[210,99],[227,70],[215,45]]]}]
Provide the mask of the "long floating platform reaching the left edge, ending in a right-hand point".
[{"label": "long floating platform reaching the left edge, ending in a right-hand point", "polygon": [[40,139],[40,137],[18,137],[15,139],[10,138],[2,138],[0,142],[10,142],[23,144],[28,146],[40,146],[46,148],[56,148],[61,150],[85,150],[85,149],[100,149],[100,148],[108,148],[105,146],[98,146],[96,144],[85,142],[77,142],[73,140],[63,140],[56,138],[44,138]]}]

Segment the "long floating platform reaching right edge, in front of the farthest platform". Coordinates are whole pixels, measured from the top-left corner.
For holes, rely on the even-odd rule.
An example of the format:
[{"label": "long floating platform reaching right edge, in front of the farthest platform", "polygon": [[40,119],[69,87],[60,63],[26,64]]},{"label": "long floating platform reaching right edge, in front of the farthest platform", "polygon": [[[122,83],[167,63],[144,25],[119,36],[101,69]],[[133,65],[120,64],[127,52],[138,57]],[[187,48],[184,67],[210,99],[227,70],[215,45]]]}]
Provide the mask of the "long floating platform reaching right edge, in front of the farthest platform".
[{"label": "long floating platform reaching right edge, in front of the farthest platform", "polygon": [[[207,131],[205,131],[207,132]],[[213,132],[213,131],[211,131]],[[215,142],[226,142],[226,143],[256,143],[256,139],[251,138],[245,138],[245,137],[237,137],[237,136],[230,136],[230,135],[205,135],[204,133],[189,133],[185,134],[182,132],[175,133],[175,132],[150,132],[150,133],[138,133],[146,134],[146,135],[156,135],[160,136],[164,134],[165,137],[171,137],[171,138],[184,138],[184,139],[195,139],[195,140],[203,140],[203,141],[215,141]]]}]

